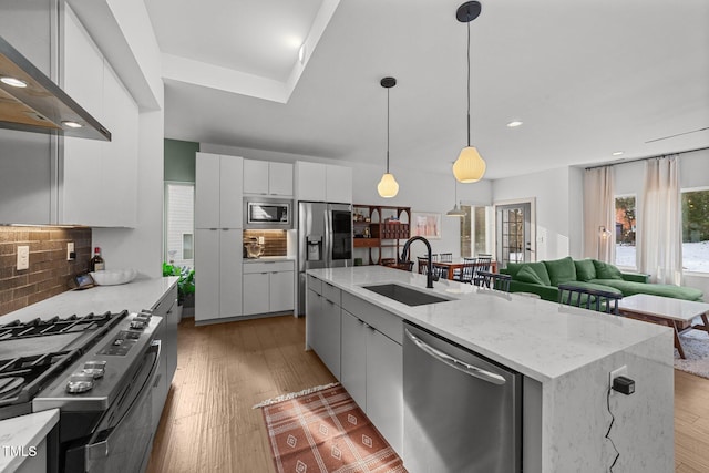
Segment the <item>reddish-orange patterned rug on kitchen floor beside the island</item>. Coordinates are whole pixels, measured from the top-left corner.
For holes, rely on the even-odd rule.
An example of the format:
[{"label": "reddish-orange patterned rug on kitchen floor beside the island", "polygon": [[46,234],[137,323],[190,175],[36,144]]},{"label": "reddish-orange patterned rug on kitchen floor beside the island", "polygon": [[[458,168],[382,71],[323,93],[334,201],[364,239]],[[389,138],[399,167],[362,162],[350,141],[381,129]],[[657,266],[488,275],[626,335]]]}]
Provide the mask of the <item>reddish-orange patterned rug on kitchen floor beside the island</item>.
[{"label": "reddish-orange patterned rug on kitchen floor beside the island", "polygon": [[269,400],[263,408],[279,473],[405,473],[403,462],[341,385]]}]

